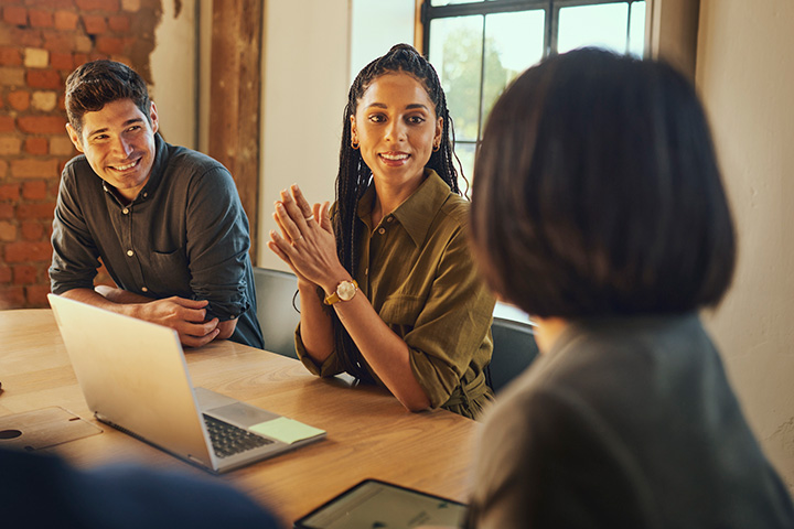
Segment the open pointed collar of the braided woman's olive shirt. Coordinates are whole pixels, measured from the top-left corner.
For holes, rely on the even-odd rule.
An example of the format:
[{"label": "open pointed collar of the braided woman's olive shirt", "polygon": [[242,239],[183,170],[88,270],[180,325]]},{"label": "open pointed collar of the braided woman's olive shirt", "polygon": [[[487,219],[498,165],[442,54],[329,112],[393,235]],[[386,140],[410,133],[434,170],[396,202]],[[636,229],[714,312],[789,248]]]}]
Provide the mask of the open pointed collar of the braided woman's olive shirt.
[{"label": "open pointed collar of the braided woman's olive shirt", "polygon": [[[408,233],[416,246],[425,242],[427,233],[430,229],[436,215],[441,205],[452,193],[447,182],[432,169],[426,169],[427,177],[419,187],[406,201],[397,206],[397,209],[386,215],[384,219],[394,216]],[[358,201],[358,217],[369,226],[369,215],[372,214],[372,204],[375,195],[375,186],[369,185],[364,196]],[[382,220],[383,222],[383,220]],[[371,230],[373,229],[369,226]]]}]

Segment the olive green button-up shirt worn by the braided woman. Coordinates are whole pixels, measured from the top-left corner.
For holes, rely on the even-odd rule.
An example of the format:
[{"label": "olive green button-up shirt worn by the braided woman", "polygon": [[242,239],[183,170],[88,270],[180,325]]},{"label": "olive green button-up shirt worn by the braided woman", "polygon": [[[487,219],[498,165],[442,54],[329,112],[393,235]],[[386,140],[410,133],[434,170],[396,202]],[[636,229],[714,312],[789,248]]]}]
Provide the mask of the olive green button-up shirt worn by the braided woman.
[{"label": "olive green button-up shirt worn by the braided woman", "polygon": [[[476,418],[493,393],[483,369],[491,361],[494,296],[478,274],[468,245],[469,202],[433,171],[414,194],[371,226],[374,186],[358,203],[367,227],[358,241],[356,281],[380,319],[410,349],[410,363],[432,408]],[[296,349],[314,375],[344,368],[337,352],[322,364]],[[372,368],[366,369],[383,385]]]}]

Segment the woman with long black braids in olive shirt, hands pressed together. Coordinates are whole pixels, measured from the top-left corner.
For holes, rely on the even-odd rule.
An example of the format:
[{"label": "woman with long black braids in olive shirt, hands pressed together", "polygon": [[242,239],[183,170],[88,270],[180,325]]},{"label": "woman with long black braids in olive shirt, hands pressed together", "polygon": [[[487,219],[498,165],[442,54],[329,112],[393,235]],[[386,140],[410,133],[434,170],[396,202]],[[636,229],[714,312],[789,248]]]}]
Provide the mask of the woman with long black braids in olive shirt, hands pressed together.
[{"label": "woman with long black braids in olive shirt, hands pressed together", "polygon": [[394,46],[351,86],[336,203],[282,191],[268,247],[298,276],[296,348],[311,373],[476,418],[492,398],[494,298],[469,251],[450,131],[436,71]]}]

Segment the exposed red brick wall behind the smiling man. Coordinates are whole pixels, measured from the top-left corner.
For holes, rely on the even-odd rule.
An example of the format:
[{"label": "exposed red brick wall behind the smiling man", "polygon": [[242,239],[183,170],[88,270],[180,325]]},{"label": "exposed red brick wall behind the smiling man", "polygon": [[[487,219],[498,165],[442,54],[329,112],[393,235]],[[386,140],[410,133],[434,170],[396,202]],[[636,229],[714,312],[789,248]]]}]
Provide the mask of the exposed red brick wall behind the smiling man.
[{"label": "exposed red brick wall behind the smiling man", "polygon": [[0,3],[0,309],[47,306],[53,209],[76,154],[64,128],[66,77],[112,58],[151,83],[161,13],[160,0]]}]

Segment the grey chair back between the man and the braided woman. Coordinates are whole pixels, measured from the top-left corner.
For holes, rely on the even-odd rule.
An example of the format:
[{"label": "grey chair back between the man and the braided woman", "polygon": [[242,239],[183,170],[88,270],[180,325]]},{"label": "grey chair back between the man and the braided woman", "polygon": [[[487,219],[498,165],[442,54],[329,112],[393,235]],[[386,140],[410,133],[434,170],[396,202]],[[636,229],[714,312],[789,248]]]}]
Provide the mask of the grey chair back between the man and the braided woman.
[{"label": "grey chair back between the man and the braided woman", "polygon": [[[254,267],[257,292],[257,316],[265,337],[265,348],[279,355],[298,358],[294,352],[294,330],[300,313],[292,306],[298,292],[298,279],[291,272]],[[300,307],[299,299],[294,298]]]}]

